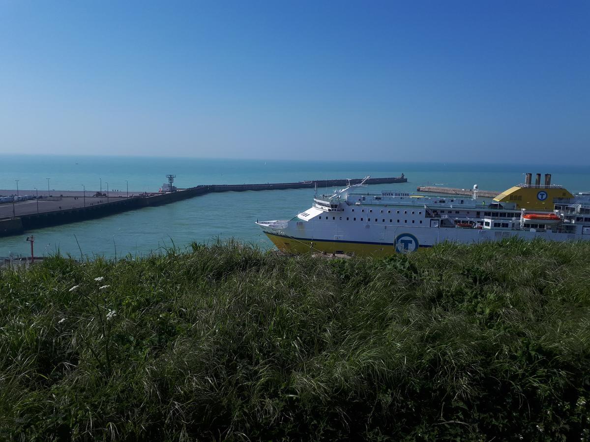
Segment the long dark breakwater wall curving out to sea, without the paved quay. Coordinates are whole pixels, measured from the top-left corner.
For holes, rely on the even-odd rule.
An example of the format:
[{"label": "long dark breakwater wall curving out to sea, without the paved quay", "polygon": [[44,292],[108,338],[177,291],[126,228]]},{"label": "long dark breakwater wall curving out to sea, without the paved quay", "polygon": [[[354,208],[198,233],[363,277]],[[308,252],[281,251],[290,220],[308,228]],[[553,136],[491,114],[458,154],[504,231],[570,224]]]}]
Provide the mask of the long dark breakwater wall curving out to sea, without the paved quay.
[{"label": "long dark breakwater wall curving out to sea, without the paved quay", "polygon": [[[28,213],[16,217],[6,217],[0,219],[0,236],[19,235],[25,230],[40,229],[96,219],[104,216],[114,215],[116,213],[126,212],[127,210],[141,209],[142,207],[159,206],[176,201],[193,198],[206,193],[214,192],[246,192],[258,190],[284,190],[284,189],[313,189],[317,186],[333,187],[358,184],[361,179],[351,180],[314,180],[296,183],[266,183],[266,184],[208,184],[202,186],[189,187],[180,189],[171,193],[152,193],[141,194],[129,198],[117,198],[114,201],[93,204],[86,207],[73,207],[70,209],[48,210],[39,213]],[[390,178],[371,178],[366,181],[367,184],[392,184],[406,183],[408,179],[402,174],[401,177]]]}]

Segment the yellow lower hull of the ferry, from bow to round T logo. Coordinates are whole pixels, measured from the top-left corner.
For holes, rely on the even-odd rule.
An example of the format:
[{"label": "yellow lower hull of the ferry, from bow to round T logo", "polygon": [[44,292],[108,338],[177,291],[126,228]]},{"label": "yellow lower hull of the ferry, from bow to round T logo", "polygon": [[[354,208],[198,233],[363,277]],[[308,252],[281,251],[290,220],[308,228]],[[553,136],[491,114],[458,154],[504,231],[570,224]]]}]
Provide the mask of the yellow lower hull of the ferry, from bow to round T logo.
[{"label": "yellow lower hull of the ferry, from bow to round T logo", "polygon": [[356,256],[388,256],[396,253],[395,245],[366,244],[355,242],[334,242],[320,240],[306,240],[287,238],[264,232],[277,246],[278,250],[285,253],[345,253]]}]

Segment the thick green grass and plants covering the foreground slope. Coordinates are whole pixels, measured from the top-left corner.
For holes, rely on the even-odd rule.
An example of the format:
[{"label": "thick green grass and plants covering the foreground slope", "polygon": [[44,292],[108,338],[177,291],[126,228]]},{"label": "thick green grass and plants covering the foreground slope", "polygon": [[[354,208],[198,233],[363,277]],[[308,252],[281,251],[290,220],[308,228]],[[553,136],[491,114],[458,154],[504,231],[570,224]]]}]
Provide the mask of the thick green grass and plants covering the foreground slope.
[{"label": "thick green grass and plants covering the foreground slope", "polygon": [[5,269],[0,438],[588,440],[589,281],[516,240]]}]

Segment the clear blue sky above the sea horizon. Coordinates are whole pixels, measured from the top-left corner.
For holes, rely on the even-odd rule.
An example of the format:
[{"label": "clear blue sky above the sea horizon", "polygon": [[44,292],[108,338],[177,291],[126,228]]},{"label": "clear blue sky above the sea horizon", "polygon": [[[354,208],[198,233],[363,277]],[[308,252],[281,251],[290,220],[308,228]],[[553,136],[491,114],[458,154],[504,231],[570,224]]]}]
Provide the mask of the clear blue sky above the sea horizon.
[{"label": "clear blue sky above the sea horizon", "polygon": [[590,164],[589,23],[588,0],[0,0],[0,154]]}]

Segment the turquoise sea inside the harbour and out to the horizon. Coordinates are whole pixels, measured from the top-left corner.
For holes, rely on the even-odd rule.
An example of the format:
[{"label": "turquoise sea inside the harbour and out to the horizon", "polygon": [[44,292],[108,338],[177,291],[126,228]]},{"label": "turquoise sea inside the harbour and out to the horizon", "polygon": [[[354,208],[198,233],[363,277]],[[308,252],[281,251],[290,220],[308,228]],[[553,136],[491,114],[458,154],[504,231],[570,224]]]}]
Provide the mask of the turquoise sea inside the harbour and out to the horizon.
[{"label": "turquoise sea inside the harbour and out to the horizon", "polygon": [[[361,155],[359,155],[361,156]],[[166,174],[175,174],[179,188],[199,184],[253,184],[303,180],[400,176],[407,183],[369,186],[368,190],[412,191],[417,186],[444,186],[481,190],[505,190],[525,180],[524,174],[551,173],[552,183],[571,192],[590,191],[590,167],[555,164],[427,163],[352,160],[241,160],[123,156],[0,157],[0,189],[82,190],[96,192],[105,183],[110,189],[130,193],[157,192]],[[47,181],[49,178],[49,181]],[[542,178],[543,181],[543,178]],[[327,193],[333,189],[318,189]],[[36,229],[23,235],[0,238],[0,257],[27,256],[35,236],[35,254],[55,253],[74,258],[137,258],[163,253],[169,248],[186,250],[191,243],[237,239],[261,249],[273,244],[256,220],[290,219],[308,209],[313,189],[211,193],[158,207],[146,207],[118,215],[67,225]],[[22,192],[21,192],[22,194]]]}]

